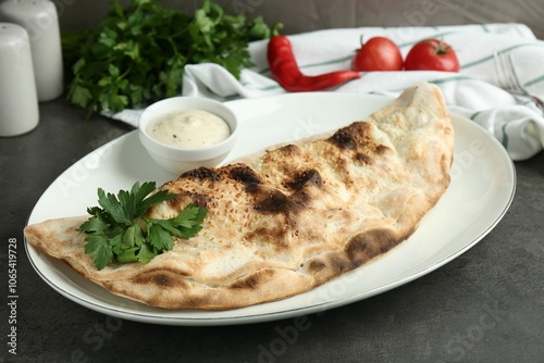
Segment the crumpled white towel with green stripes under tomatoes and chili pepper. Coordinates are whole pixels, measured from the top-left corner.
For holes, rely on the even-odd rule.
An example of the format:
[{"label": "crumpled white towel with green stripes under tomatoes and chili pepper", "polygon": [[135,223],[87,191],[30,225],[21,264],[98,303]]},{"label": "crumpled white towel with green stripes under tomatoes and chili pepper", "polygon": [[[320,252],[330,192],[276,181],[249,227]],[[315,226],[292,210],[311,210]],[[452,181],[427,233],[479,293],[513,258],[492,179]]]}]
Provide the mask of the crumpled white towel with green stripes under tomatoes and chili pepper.
[{"label": "crumpled white towel with green stripes under tomatoes and chili pepper", "polygon": [[[459,73],[370,72],[333,89],[335,92],[375,93],[396,97],[420,80],[437,85],[452,112],[470,118],[492,133],[515,161],[533,157],[544,146],[544,117],[529,99],[515,98],[499,88],[493,53],[510,53],[521,83],[544,98],[544,41],[522,24],[485,24],[440,27],[361,27],[327,29],[288,36],[305,74],[316,75],[349,68],[360,37],[386,36],[406,57],[424,38],[442,38],[457,52]],[[250,43],[255,64],[234,78],[217,64],[185,67],[184,96],[221,101],[284,93],[267,63],[268,41]],[[141,110],[110,115],[137,126]]]}]

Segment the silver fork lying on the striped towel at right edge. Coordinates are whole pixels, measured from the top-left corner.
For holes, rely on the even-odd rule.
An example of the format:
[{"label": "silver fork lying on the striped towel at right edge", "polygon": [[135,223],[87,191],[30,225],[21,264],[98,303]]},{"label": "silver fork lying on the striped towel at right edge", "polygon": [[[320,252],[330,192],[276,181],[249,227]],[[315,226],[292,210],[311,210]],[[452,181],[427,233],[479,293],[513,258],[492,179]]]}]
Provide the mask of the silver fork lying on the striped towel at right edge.
[{"label": "silver fork lying on the striped towel at right edge", "polygon": [[516,67],[511,60],[511,54],[509,53],[498,53],[495,51],[493,53],[495,59],[495,67],[498,74],[498,84],[500,88],[506,90],[508,93],[518,97],[530,98],[536,107],[544,112],[544,101],[534,95],[529,93],[529,91],[521,85]]}]

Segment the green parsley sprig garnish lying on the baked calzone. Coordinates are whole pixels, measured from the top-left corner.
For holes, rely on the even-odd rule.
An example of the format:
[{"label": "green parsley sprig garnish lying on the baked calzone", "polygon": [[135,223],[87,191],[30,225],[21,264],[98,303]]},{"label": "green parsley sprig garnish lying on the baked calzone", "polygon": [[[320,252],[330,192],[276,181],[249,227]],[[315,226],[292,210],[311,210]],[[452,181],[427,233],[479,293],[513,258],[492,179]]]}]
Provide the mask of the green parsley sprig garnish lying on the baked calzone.
[{"label": "green parsley sprig garnish lying on the baked calzone", "polygon": [[85,253],[90,254],[98,270],[114,261],[146,264],[157,254],[172,250],[175,238],[188,239],[202,229],[207,210],[195,204],[170,220],[147,216],[152,204],[176,197],[168,190],[152,193],[154,190],[152,182],[141,186],[135,183],[131,191],[120,190],[116,197],[98,189],[100,206],[88,208],[92,216],[77,228],[87,234]]}]

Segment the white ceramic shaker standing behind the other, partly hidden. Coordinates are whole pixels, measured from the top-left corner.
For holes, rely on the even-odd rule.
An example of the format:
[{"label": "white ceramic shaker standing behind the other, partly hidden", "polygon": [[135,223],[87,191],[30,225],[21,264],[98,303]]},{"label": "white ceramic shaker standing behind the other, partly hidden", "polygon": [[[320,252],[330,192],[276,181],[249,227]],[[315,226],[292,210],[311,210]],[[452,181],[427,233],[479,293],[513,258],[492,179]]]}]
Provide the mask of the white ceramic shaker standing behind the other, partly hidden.
[{"label": "white ceramic shaker standing behind the other, partly hidden", "polygon": [[64,85],[54,3],[49,0],[4,0],[0,2],[0,21],[18,24],[28,34],[38,100],[44,102],[59,97]]}]

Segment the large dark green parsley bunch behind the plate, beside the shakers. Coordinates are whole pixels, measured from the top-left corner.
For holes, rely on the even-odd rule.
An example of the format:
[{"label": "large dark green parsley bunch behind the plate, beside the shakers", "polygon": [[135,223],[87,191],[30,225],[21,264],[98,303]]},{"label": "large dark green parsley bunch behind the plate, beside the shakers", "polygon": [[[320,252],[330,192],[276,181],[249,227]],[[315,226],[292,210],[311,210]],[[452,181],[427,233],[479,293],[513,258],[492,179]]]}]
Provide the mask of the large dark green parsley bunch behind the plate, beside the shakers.
[{"label": "large dark green parsley bunch behind the plate, beside the shakers", "polygon": [[[63,33],[72,77],[67,100],[87,110],[121,111],[181,93],[184,66],[212,62],[236,78],[251,65],[249,41],[269,38],[262,20],[227,15],[203,0],[194,15],[164,9],[160,0],[118,0],[95,29]],[[275,28],[274,28],[275,29]]]}]

